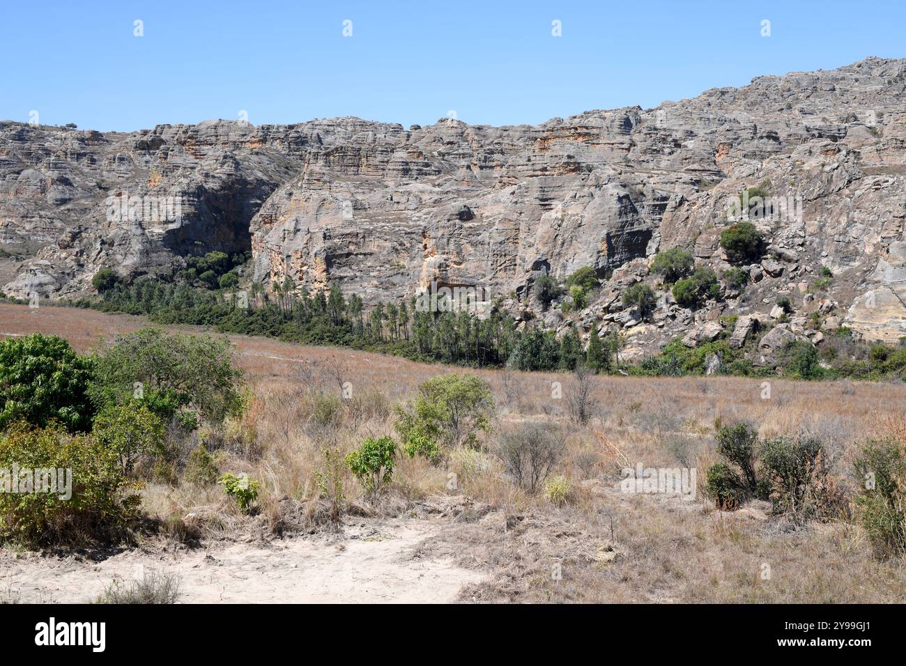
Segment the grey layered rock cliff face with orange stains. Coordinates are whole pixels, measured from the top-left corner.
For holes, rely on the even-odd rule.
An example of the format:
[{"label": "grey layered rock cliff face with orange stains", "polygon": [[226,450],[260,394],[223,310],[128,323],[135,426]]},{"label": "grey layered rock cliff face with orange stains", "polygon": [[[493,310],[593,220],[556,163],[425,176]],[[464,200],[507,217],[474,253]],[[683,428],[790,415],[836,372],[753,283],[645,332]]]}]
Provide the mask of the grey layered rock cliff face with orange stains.
[{"label": "grey layered rock cliff face with orange stains", "polygon": [[[692,100],[588,111],[539,126],[428,127],[341,118],[207,121],[130,134],[0,123],[0,283],[80,294],[102,266],[166,274],[182,256],[251,248],[255,278],[338,282],[368,302],[483,287],[534,309],[538,275],[612,270],[573,319],[643,345],[720,314],[769,321],[778,294],[871,339],[906,335],[906,61],[766,76]],[[696,312],[663,291],[651,323],[619,294],[649,258],[718,236],[760,186],[769,241],[746,294]],[[822,266],[834,274],[819,290]],[[564,324],[559,312],[542,314]],[[707,334],[707,333],[704,333]]]}]

